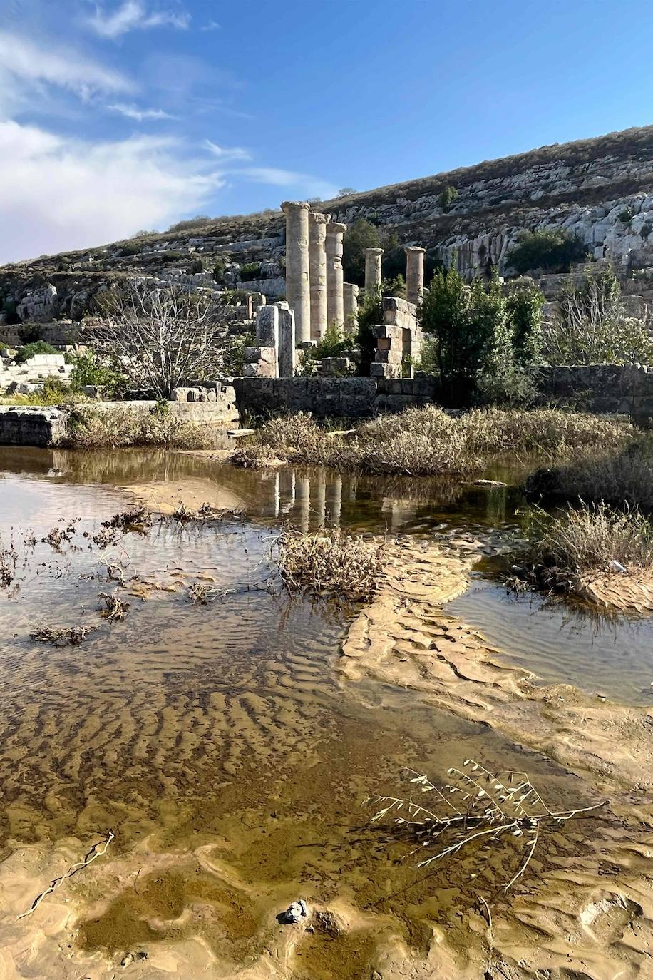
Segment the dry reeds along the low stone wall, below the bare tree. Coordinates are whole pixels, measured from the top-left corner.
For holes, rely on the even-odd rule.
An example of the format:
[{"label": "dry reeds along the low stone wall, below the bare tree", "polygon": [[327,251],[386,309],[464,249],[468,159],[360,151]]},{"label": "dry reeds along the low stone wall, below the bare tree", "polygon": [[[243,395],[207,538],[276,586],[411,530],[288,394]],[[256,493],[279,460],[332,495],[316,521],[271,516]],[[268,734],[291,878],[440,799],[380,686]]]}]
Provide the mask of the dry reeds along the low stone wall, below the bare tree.
[{"label": "dry reeds along the low stone wall, below the bare tree", "polygon": [[73,449],[117,449],[156,446],[166,449],[211,449],[216,444],[210,425],[187,421],[167,412],[141,412],[81,407],[69,422],[66,445]]}]

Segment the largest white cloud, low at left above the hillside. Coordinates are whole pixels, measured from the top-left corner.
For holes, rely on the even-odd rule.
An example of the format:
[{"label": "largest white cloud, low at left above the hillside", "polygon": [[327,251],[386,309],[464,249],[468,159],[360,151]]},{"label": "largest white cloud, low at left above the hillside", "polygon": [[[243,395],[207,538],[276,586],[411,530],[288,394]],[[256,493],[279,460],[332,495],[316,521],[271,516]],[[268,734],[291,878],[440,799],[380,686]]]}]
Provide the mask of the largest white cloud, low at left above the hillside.
[{"label": "largest white cloud, low at left above the hillside", "polygon": [[104,143],[0,122],[0,262],[115,241],[197,211],[224,183],[153,136]]}]

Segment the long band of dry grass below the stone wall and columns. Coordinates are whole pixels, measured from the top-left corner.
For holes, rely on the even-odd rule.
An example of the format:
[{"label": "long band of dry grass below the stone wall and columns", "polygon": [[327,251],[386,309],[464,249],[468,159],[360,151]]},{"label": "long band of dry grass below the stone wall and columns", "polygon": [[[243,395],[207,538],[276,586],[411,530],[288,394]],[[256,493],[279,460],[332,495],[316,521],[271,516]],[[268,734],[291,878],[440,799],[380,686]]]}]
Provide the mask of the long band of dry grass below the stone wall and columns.
[{"label": "long band of dry grass below the stone wall and columns", "polygon": [[272,460],[412,476],[469,475],[492,457],[535,453],[560,459],[589,447],[617,447],[631,434],[626,422],[566,413],[477,410],[451,417],[435,406],[360,422],[346,435],[329,433],[309,415],[273,418],[243,439],[239,466]]}]

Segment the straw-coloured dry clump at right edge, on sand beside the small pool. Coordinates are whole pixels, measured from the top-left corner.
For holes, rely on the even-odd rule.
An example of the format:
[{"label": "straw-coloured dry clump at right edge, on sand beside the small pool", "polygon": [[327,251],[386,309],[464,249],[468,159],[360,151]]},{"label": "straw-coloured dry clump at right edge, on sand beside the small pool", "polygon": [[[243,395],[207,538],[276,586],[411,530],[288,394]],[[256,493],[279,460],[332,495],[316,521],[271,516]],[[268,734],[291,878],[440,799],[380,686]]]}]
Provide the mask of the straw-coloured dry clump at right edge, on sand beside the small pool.
[{"label": "straw-coloured dry clump at right edge, on sand beside the small pool", "polygon": [[549,591],[580,591],[583,579],[596,572],[653,569],[653,524],[628,508],[583,503],[554,516],[539,512],[529,539],[508,580],[513,588],[521,581]]}]

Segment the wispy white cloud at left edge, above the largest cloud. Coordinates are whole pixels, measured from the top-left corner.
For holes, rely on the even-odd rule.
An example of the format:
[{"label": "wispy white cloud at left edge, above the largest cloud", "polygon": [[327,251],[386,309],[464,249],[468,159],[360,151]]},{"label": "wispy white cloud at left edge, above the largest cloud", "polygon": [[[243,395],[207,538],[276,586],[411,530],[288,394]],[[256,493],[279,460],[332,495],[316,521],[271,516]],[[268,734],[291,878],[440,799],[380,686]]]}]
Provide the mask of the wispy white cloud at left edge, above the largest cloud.
[{"label": "wispy white cloud at left edge, above the largest cloud", "polygon": [[98,92],[117,94],[132,88],[123,74],[76,52],[37,45],[0,29],[0,111],[20,102],[25,87],[43,84],[68,89],[83,99]]}]

